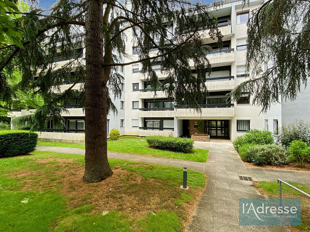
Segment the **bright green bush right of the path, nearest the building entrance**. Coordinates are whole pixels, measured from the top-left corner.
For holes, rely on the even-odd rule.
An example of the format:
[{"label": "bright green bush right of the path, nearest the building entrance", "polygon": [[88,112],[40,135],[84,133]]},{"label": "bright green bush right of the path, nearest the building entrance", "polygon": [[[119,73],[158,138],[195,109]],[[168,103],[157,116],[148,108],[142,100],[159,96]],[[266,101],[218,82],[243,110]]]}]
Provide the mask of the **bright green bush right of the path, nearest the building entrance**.
[{"label": "bright green bush right of the path, nearest the building entrance", "polygon": [[233,141],[233,145],[237,151],[239,151],[239,147],[243,144],[272,144],[273,137],[270,131],[260,131],[257,129],[250,129],[246,132],[246,134],[238,136],[235,141]]}]

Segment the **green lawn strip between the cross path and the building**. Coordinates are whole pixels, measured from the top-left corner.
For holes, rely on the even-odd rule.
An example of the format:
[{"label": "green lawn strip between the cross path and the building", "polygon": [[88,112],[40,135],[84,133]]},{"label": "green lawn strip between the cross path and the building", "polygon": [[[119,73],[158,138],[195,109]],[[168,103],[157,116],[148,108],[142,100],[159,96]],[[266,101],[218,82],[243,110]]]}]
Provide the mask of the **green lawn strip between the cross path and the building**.
[{"label": "green lawn strip between the cross path and the building", "polygon": [[[57,143],[57,142],[43,142],[43,141],[38,141],[38,145],[54,146],[54,147],[85,148],[85,144]],[[190,160],[190,161],[196,161],[196,162],[206,162],[208,158],[208,153],[209,153],[208,150],[196,149],[196,148],[193,149],[193,153],[177,153],[177,152],[153,149],[153,148],[148,147],[146,138],[140,138],[140,137],[135,137],[135,136],[122,136],[117,141],[108,140],[108,151],[168,157],[168,158]]]}]

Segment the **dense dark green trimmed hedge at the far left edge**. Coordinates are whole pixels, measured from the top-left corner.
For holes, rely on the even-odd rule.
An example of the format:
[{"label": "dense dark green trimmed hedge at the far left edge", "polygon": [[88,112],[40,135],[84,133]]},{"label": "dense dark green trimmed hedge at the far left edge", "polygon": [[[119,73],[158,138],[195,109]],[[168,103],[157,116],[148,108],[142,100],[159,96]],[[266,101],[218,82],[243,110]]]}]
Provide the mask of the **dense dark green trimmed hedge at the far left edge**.
[{"label": "dense dark green trimmed hedge at the far left edge", "polygon": [[0,157],[28,154],[35,150],[38,134],[29,131],[0,131]]}]

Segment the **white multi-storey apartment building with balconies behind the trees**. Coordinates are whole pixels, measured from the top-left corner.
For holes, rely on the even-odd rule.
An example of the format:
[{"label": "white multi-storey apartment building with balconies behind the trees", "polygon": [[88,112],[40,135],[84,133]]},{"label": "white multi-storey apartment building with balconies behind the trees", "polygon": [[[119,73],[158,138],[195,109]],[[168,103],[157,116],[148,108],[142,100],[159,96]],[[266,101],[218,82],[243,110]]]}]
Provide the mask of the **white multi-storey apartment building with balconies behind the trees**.
[{"label": "white multi-storey apartment building with balconies behind the trees", "polygon": [[[118,115],[108,115],[108,133],[112,128],[117,128],[121,135],[138,136],[167,136],[172,133],[175,137],[188,137],[195,132],[203,132],[210,134],[211,138],[233,141],[249,129],[265,128],[274,131],[274,128],[283,123],[294,121],[296,111],[292,111],[290,115],[283,112],[289,112],[291,107],[298,107],[298,104],[277,104],[263,115],[260,114],[260,108],[252,106],[251,96],[247,93],[244,93],[237,102],[226,97],[227,93],[250,77],[250,74],[245,73],[246,22],[249,12],[258,8],[263,2],[263,0],[250,1],[249,5],[243,6],[242,1],[228,0],[218,10],[212,12],[217,17],[219,30],[224,36],[221,50],[217,47],[216,41],[209,37],[208,29],[199,32],[204,37],[205,44],[213,48],[213,52],[207,55],[211,64],[211,74],[210,76],[206,74],[209,94],[201,105],[201,113],[189,109],[187,105],[175,106],[173,102],[168,101],[161,89],[157,90],[157,96],[154,97],[154,91],[147,77],[141,72],[142,64],[127,65],[119,69],[119,73],[124,77],[124,83],[121,84],[123,92],[121,99],[114,100]],[[173,32],[173,26],[168,29]],[[127,53],[132,55],[124,58],[125,63],[138,60],[132,39],[133,31],[126,30],[126,36]],[[151,52],[156,52],[156,49]],[[195,67],[191,62],[190,68],[195,74]],[[162,82],[166,76],[160,69],[160,62],[153,66],[159,82]],[[73,73],[70,81],[74,80],[76,77]],[[64,83],[60,92],[64,92],[69,86]],[[79,85],[75,88],[78,89]],[[301,97],[300,101],[305,101],[304,97]],[[46,130],[39,132],[39,137],[52,141],[83,142],[85,136],[83,109],[80,108],[77,99],[67,100],[64,107],[68,109],[68,113],[63,115],[66,127],[55,128],[53,123],[49,122]],[[22,110],[9,115],[14,117],[29,113]],[[301,118],[307,118],[310,112],[303,111],[299,114],[303,115]]]}]

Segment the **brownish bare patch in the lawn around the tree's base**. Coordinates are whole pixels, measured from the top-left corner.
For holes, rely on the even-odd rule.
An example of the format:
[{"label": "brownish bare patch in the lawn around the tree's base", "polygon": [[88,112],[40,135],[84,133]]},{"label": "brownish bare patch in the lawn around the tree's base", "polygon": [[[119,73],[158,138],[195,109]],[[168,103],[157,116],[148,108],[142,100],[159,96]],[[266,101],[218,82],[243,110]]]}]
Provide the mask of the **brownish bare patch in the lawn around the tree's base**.
[{"label": "brownish bare patch in the lawn around the tree's base", "polygon": [[[47,158],[36,159],[36,162],[42,170],[20,170],[8,175],[22,179],[22,190],[56,189],[66,196],[70,207],[90,204],[94,207],[92,213],[96,214],[116,210],[141,218],[150,212],[167,210],[175,212],[185,225],[203,191],[201,187],[185,191],[169,185],[166,180],[142,178],[120,167],[113,169],[114,174],[100,183],[84,183],[84,167],[73,159]],[[176,204],[182,192],[193,194],[194,200]]]}]

